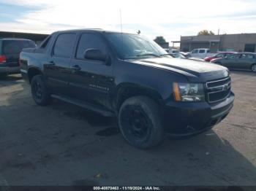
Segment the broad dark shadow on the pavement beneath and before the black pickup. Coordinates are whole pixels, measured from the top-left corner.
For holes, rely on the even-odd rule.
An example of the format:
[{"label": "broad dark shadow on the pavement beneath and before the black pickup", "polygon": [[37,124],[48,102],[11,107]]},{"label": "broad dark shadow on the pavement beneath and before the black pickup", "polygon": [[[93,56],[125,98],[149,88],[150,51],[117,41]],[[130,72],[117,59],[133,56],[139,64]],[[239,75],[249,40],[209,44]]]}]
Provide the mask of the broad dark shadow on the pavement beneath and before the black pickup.
[{"label": "broad dark shadow on the pavement beneath and before the black pickup", "polygon": [[[113,136],[100,136],[100,130],[117,128],[113,118],[61,101],[36,106],[21,83],[23,90],[0,106],[0,171],[10,185],[256,184],[255,159],[215,130],[135,149],[113,129]],[[18,97],[20,92],[27,96]]]}]

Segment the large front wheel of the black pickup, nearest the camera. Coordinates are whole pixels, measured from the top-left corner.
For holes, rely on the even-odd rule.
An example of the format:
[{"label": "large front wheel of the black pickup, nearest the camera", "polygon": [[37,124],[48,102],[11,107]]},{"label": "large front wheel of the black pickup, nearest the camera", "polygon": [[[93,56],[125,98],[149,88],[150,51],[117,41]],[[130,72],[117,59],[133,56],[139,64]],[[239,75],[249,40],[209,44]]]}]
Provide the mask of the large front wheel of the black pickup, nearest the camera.
[{"label": "large front wheel of the black pickup, nearest the camera", "polygon": [[154,147],[165,136],[159,106],[146,96],[124,101],[118,112],[118,125],[124,139],[139,149]]}]

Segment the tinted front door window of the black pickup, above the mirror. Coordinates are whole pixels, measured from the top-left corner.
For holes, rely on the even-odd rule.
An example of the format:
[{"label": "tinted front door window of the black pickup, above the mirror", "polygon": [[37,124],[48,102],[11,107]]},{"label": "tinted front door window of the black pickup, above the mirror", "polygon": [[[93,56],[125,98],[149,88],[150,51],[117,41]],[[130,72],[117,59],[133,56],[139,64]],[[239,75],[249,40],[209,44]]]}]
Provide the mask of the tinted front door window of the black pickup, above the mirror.
[{"label": "tinted front door window of the black pickup, above the mirror", "polygon": [[105,44],[97,34],[82,34],[78,43],[76,58],[83,59],[84,52],[88,49],[97,49],[106,52]]}]

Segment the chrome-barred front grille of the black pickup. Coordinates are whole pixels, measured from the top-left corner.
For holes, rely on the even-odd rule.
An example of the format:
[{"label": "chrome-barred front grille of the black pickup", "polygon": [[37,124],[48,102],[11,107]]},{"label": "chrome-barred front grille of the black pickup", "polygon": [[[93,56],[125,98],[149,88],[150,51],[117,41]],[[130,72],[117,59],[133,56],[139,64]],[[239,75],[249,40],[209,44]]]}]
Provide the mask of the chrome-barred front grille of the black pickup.
[{"label": "chrome-barred front grille of the black pickup", "polygon": [[230,95],[231,79],[230,77],[206,82],[206,94],[209,103],[222,101]]}]

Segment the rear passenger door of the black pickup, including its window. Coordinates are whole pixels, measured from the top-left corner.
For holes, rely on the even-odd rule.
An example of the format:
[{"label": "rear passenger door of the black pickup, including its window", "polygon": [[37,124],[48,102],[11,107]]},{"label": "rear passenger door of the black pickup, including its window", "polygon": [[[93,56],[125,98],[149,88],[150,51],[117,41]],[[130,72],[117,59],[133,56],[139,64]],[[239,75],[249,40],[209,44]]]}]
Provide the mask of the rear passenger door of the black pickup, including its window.
[{"label": "rear passenger door of the black pickup, including its window", "polygon": [[53,93],[62,95],[69,95],[70,93],[68,80],[72,72],[70,61],[75,39],[75,33],[57,35],[48,61],[43,63],[46,82]]}]

